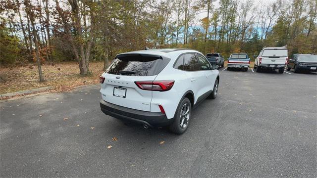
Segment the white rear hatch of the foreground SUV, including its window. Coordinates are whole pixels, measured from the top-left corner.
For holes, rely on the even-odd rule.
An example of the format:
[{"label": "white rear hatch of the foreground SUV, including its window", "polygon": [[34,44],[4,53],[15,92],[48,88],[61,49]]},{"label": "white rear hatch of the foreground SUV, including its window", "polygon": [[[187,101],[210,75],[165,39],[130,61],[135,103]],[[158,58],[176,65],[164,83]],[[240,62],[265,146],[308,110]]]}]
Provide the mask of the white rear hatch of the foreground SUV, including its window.
[{"label": "white rear hatch of the foreground SUV, including its window", "polygon": [[119,54],[103,74],[100,92],[106,102],[150,111],[152,91],[140,89],[136,81],[154,81],[170,59],[152,54]]}]

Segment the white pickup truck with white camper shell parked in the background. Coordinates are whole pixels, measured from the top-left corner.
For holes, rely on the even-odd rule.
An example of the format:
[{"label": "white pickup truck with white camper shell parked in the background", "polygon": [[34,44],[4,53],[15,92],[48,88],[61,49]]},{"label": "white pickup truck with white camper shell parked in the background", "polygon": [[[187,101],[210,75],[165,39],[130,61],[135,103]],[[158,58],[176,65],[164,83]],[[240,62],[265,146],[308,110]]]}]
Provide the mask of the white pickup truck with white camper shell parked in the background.
[{"label": "white pickup truck with white camper shell parked in the background", "polygon": [[288,61],[286,47],[264,47],[255,59],[254,68],[256,72],[265,68],[278,69],[278,73],[282,74]]}]

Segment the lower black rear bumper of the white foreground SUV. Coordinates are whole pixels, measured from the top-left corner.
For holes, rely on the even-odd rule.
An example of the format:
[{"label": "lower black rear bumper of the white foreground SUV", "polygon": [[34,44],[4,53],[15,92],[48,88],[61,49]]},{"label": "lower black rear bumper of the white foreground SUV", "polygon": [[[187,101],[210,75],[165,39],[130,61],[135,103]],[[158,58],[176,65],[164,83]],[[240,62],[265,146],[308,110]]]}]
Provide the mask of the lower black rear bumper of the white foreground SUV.
[{"label": "lower black rear bumper of the white foreground SUV", "polygon": [[103,99],[100,100],[101,110],[109,116],[141,125],[150,127],[162,127],[171,124],[173,119],[167,119],[166,115],[161,112],[147,112],[136,109],[126,108],[115,104],[108,103]]}]

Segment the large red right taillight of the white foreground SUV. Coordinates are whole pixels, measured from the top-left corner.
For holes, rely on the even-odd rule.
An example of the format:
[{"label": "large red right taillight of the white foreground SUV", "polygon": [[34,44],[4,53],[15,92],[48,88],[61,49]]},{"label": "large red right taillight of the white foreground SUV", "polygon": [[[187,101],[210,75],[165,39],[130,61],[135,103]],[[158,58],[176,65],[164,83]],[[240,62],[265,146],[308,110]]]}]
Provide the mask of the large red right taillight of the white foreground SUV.
[{"label": "large red right taillight of the white foreground SUV", "polygon": [[134,83],[140,88],[152,91],[167,91],[174,85],[173,80],[164,81],[135,81]]}]

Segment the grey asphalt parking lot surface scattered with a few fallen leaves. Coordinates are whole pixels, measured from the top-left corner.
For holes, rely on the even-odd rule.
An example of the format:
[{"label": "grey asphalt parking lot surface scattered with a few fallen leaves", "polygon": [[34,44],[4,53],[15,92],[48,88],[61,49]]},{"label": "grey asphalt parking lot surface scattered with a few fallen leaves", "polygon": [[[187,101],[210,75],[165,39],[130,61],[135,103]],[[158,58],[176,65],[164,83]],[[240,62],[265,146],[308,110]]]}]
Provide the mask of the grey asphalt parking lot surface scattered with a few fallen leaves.
[{"label": "grey asphalt parking lot surface scattered with a few fallen leaves", "polygon": [[0,177],[316,178],[317,74],[219,71],[183,135],[106,116],[99,86],[2,102]]}]

